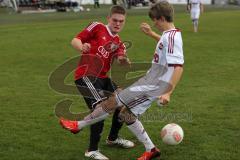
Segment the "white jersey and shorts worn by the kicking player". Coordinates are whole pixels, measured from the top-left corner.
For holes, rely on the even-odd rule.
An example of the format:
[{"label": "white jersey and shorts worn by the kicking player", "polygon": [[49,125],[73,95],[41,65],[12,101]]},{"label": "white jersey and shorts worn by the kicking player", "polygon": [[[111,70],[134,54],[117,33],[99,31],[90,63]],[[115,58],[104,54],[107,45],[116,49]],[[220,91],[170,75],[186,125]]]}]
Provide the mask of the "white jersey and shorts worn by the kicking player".
[{"label": "white jersey and shorts worn by the kicking player", "polygon": [[181,31],[171,29],[163,32],[159,40],[152,66],[147,74],[117,95],[119,105],[125,105],[136,116],[144,113],[150,104],[171,88],[169,83],[175,65],[183,65],[183,42]]}]

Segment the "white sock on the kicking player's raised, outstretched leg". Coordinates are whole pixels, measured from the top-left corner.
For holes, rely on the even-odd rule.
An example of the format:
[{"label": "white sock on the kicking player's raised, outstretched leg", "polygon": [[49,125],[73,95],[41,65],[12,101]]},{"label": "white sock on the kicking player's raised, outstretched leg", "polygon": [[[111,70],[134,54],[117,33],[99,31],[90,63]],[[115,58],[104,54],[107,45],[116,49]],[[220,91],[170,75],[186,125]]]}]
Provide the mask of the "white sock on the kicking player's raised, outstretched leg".
[{"label": "white sock on the kicking player's raised, outstretched leg", "polygon": [[108,113],[102,107],[96,108],[92,113],[84,117],[83,120],[78,121],[78,129],[100,122],[108,117]]}]

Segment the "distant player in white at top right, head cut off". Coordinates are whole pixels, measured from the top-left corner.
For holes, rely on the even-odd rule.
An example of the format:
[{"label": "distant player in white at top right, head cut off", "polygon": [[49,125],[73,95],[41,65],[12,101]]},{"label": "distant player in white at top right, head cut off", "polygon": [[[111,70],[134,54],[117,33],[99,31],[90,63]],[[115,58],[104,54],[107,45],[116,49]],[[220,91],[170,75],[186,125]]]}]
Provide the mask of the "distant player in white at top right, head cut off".
[{"label": "distant player in white at top right, head cut off", "polygon": [[203,4],[201,0],[189,0],[188,9],[191,13],[194,32],[198,32],[198,20],[200,13],[203,12]]}]

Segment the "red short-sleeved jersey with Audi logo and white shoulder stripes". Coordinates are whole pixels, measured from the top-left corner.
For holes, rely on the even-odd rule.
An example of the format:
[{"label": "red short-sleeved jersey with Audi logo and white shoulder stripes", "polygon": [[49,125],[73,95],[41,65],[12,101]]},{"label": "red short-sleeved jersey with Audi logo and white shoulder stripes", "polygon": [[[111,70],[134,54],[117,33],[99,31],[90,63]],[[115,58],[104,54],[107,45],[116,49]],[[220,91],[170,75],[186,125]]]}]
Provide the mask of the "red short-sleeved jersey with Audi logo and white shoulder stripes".
[{"label": "red short-sleeved jersey with Audi logo and white shoulder stripes", "polygon": [[119,36],[113,35],[102,23],[91,23],[76,38],[91,45],[90,51],[81,55],[75,70],[76,80],[83,76],[106,78],[114,58],[126,53]]}]

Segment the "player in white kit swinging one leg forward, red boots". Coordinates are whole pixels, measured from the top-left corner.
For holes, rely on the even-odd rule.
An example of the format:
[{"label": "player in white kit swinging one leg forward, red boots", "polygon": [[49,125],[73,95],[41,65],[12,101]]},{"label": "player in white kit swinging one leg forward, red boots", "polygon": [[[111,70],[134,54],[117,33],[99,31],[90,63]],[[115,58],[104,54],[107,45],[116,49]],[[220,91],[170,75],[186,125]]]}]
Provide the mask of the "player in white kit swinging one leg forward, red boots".
[{"label": "player in white kit swinging one leg forward, red boots", "polygon": [[173,23],[174,10],[168,2],[158,2],[149,11],[154,26],[162,36],[154,51],[152,66],[146,75],[119,93],[99,103],[96,109],[83,120],[71,121],[61,118],[63,128],[78,133],[82,128],[108,117],[121,107],[120,118],[131,132],[143,143],[145,152],[138,160],[151,160],[160,157],[138,116],[144,113],[151,103],[176,86],[183,72],[183,42],[181,31]]}]

